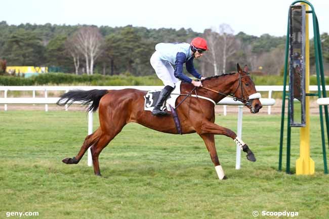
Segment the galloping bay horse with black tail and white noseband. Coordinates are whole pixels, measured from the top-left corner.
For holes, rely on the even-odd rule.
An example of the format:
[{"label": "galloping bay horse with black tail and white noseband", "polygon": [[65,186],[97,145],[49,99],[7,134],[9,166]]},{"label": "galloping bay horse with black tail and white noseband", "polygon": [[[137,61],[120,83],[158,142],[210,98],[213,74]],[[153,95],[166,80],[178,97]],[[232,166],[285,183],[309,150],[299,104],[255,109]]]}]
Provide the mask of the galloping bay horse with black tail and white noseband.
[{"label": "galloping bay horse with black tail and white noseband", "polygon": [[[262,108],[262,104],[259,97],[257,99],[249,98],[256,94],[256,87],[247,71],[246,66],[242,71],[237,64],[237,72],[205,78],[202,80],[202,87],[195,87],[190,83],[183,82],[181,83],[181,94],[195,90],[194,92],[198,96],[210,98],[216,103],[230,95],[243,102],[252,113],[257,113]],[[77,90],[63,94],[57,102],[58,105],[80,101],[89,105],[88,111],[95,112],[99,109],[100,126],[93,134],[86,137],[77,156],[65,158],[62,161],[66,164],[77,164],[87,149],[91,147],[94,172],[97,176],[101,176],[98,156],[127,123],[136,122],[159,132],[178,134],[172,116],[153,116],[150,111],[144,110],[146,93],[146,91],[136,89],[123,89]],[[214,135],[230,137],[246,153],[248,160],[256,161],[248,145],[243,143],[232,130],[214,123],[215,106],[213,102],[195,97],[186,98],[186,96],[179,96],[176,102],[180,103],[184,98],[184,102],[176,109],[181,122],[182,134],[197,133],[203,139],[220,180],[226,179],[226,177],[218,160]]]}]

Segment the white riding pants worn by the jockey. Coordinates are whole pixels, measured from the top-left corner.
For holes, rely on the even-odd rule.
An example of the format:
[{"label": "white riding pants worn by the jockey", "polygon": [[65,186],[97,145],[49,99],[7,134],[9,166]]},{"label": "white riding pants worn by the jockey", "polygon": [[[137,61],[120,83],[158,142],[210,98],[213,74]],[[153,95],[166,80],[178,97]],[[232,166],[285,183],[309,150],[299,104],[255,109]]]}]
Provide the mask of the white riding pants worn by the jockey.
[{"label": "white riding pants worn by the jockey", "polygon": [[175,83],[179,80],[174,75],[174,68],[170,62],[160,59],[158,52],[154,52],[150,59],[151,65],[155,70],[155,73],[160,80],[162,80],[165,86],[169,85],[175,87]]}]

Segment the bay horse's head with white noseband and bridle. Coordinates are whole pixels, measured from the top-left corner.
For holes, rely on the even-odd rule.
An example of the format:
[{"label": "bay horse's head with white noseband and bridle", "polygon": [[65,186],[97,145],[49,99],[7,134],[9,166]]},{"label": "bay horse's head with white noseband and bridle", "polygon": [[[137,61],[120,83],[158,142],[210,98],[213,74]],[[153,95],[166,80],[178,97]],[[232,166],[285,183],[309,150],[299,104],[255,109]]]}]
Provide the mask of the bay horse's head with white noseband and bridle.
[{"label": "bay horse's head with white noseband and bridle", "polygon": [[252,113],[258,113],[263,107],[259,98],[261,97],[256,91],[255,83],[248,73],[248,67],[245,65],[242,70],[239,64],[237,68],[237,80],[234,82],[233,95],[237,100],[241,101]]}]

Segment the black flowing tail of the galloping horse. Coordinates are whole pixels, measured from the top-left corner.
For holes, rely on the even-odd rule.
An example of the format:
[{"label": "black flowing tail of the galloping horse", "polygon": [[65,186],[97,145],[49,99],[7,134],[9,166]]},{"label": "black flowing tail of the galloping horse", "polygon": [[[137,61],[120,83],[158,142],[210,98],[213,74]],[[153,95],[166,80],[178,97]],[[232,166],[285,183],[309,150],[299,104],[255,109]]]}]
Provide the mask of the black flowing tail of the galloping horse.
[{"label": "black flowing tail of the galloping horse", "polygon": [[69,91],[61,96],[61,98],[57,101],[57,105],[71,105],[75,101],[80,101],[83,105],[89,105],[87,109],[88,111],[95,112],[98,109],[99,101],[107,93],[108,90]]}]

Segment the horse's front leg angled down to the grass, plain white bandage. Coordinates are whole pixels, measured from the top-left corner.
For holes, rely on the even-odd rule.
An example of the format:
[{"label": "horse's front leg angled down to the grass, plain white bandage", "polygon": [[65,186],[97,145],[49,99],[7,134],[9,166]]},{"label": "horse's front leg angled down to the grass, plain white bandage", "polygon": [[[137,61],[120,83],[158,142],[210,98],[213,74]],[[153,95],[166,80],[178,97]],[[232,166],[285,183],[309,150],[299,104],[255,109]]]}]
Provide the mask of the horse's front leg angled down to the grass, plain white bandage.
[{"label": "horse's front leg angled down to the grass, plain white bandage", "polygon": [[207,147],[210,157],[215,165],[217,176],[220,180],[226,180],[223,168],[219,163],[216,146],[215,146],[215,137],[213,134],[202,134],[200,137],[203,139],[205,146]]}]

